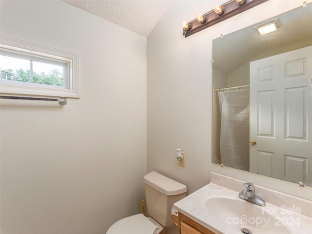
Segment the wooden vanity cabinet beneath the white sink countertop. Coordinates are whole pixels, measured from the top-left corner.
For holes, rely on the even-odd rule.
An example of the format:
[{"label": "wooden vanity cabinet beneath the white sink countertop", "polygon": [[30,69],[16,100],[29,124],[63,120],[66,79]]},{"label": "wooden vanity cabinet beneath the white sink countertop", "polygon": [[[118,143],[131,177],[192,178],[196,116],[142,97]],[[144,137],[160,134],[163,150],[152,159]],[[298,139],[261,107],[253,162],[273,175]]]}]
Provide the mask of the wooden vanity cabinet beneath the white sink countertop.
[{"label": "wooden vanity cabinet beneath the white sink countertop", "polygon": [[178,234],[215,234],[180,212],[178,213],[177,222]]}]

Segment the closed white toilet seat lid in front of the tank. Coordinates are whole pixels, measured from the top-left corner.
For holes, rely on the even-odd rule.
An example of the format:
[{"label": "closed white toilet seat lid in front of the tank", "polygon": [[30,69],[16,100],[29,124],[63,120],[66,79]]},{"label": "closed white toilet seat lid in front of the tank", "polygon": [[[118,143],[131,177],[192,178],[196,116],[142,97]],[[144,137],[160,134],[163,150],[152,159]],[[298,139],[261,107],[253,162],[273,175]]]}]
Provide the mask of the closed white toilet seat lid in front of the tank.
[{"label": "closed white toilet seat lid in front of the tank", "polygon": [[106,234],[156,234],[156,225],[142,214],[122,218]]}]

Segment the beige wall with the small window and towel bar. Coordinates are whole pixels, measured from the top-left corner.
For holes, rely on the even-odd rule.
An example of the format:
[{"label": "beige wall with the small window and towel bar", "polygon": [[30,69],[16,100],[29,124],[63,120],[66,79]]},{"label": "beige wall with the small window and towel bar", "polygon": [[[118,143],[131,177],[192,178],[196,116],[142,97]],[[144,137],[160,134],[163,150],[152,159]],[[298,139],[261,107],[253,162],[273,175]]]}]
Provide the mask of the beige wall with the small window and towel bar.
[{"label": "beige wall with the small window and towel bar", "polygon": [[60,0],[2,1],[1,34],[79,54],[80,99],[1,99],[1,234],[105,234],[141,210],[146,38]]}]

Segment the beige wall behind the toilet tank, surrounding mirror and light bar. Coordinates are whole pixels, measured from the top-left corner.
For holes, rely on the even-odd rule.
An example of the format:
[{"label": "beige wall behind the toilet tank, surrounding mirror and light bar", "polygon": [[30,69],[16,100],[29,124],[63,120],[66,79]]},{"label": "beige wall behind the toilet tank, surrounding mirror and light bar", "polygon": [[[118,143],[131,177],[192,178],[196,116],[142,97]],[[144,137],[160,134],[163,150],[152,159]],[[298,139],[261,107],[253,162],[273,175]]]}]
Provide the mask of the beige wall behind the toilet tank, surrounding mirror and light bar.
[{"label": "beige wall behind the toilet tank, surrounding mirror and light bar", "polygon": [[[184,183],[188,194],[207,184],[215,171],[312,199],[311,187],[211,163],[212,40],[298,7],[302,1],[266,1],[188,38],[182,36],[184,20],[193,20],[219,3],[173,1],[147,38],[147,171]],[[185,168],[177,165],[176,148],[186,154]]]}]

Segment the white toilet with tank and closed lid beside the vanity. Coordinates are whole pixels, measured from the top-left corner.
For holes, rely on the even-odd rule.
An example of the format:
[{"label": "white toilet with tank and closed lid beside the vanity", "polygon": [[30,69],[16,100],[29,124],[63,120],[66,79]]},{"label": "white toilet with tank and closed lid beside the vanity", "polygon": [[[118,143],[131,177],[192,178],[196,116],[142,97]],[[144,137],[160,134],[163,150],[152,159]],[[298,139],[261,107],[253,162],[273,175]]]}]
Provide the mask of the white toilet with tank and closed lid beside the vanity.
[{"label": "white toilet with tank and closed lid beside the vanity", "polygon": [[106,234],[160,234],[164,228],[175,225],[171,209],[185,197],[186,186],[157,172],[144,176],[143,182],[150,217],[138,214],[120,219]]}]

